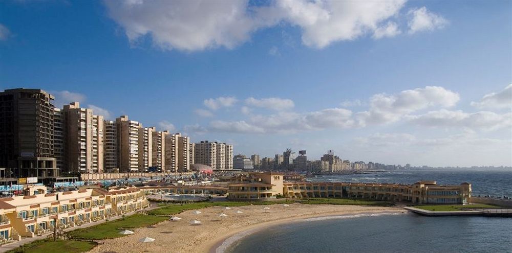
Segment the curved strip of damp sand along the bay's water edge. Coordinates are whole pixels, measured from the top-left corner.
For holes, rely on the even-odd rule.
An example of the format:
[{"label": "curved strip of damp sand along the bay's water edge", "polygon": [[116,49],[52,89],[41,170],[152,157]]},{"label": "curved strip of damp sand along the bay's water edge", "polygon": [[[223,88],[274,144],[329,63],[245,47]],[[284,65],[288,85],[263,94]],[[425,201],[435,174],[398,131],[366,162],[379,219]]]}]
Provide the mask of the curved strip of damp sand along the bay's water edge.
[{"label": "curved strip of damp sand along the bay's water edge", "polygon": [[264,228],[271,226],[277,226],[281,224],[289,224],[293,222],[307,222],[317,221],[325,219],[347,219],[347,218],[358,218],[363,216],[381,216],[381,215],[399,215],[406,214],[407,211],[403,210],[382,210],[382,211],[362,211],[362,212],[333,212],[332,214],[319,214],[319,215],[305,215],[303,217],[292,217],[289,219],[267,221],[258,224],[254,224],[245,228],[236,229],[235,231],[228,233],[210,243],[202,245],[201,251],[208,253],[225,253],[225,251],[233,244],[243,240],[245,237],[250,236],[254,233],[260,232]]}]

